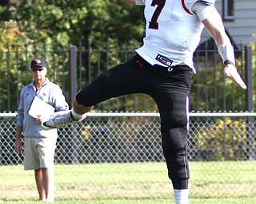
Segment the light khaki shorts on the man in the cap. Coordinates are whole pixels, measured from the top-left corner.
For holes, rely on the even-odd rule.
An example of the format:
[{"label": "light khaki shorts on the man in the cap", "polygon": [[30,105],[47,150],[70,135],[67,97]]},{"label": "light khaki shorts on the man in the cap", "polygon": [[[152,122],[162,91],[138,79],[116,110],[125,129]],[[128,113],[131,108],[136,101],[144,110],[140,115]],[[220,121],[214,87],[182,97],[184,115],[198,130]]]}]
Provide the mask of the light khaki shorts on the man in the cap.
[{"label": "light khaki shorts on the man in the cap", "polygon": [[24,170],[54,167],[57,136],[25,137]]}]

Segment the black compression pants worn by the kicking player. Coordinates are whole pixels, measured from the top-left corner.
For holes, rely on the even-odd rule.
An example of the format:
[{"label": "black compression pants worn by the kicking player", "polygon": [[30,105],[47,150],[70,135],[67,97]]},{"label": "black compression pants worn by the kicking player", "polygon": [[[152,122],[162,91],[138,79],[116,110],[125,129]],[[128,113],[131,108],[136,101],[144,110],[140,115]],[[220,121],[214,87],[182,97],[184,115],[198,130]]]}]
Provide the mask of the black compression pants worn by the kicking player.
[{"label": "black compression pants worn by the kicking player", "polygon": [[133,93],[152,96],[161,117],[162,149],[175,189],[186,189],[190,178],[187,159],[187,96],[192,70],[186,65],[150,65],[136,54],[106,71],[78,92],[78,104],[93,106],[112,97]]}]

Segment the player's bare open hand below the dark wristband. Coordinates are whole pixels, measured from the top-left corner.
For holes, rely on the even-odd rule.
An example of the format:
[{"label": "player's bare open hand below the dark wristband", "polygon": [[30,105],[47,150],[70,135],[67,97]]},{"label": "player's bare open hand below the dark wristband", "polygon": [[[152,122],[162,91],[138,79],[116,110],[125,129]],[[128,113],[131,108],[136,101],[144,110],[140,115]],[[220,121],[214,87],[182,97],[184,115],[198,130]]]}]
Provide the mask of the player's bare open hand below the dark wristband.
[{"label": "player's bare open hand below the dark wristband", "polygon": [[237,83],[241,88],[247,88],[245,82],[240,77],[240,74],[234,65],[226,65],[223,73],[226,75],[226,77],[230,77],[232,80],[234,80],[234,82]]}]

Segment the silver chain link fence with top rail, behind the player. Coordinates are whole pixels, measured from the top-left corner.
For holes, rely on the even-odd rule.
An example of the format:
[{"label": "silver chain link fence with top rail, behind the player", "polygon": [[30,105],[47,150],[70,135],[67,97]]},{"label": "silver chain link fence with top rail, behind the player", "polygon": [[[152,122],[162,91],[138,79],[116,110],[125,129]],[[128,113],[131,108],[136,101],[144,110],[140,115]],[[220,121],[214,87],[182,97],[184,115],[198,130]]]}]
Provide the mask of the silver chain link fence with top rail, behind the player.
[{"label": "silver chain link fence with top rail, behind the player", "polygon": [[[0,200],[37,199],[14,151],[15,115],[0,114]],[[256,196],[255,116],[190,113],[191,198]],[[90,113],[59,128],[54,169],[56,200],[172,198],[157,112]]]}]

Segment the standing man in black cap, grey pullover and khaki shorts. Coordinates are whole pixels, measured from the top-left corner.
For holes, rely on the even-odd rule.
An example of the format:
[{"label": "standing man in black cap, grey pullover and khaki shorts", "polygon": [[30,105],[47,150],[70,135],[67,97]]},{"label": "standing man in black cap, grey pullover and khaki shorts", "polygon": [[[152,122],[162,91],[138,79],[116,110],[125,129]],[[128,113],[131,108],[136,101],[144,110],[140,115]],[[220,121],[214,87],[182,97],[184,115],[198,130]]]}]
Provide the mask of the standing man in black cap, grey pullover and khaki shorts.
[{"label": "standing man in black cap, grey pullover and khaki shorts", "polygon": [[[45,113],[48,112],[42,106],[44,103],[50,104],[55,112],[59,112],[67,110],[68,104],[61,88],[46,77],[44,60],[34,59],[31,61],[30,69],[34,80],[21,90],[15,151],[18,153],[22,151],[23,134],[24,169],[34,170],[39,199],[44,202],[54,202],[54,151],[58,132],[57,129],[42,129],[40,124]],[[39,111],[38,116],[33,116],[33,112],[29,114],[32,106],[36,107],[36,112]]]}]

